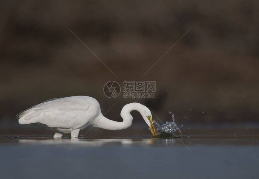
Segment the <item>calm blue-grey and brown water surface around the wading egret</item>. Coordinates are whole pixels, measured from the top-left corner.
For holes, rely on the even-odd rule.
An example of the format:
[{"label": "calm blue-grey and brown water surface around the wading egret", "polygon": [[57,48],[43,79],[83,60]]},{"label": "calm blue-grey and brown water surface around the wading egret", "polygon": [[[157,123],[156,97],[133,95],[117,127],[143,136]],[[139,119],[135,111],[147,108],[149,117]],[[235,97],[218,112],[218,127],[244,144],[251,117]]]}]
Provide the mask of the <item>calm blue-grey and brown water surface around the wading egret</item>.
[{"label": "calm blue-grey and brown water surface around the wading egret", "polygon": [[146,128],[93,128],[78,141],[69,135],[53,139],[53,132],[42,128],[3,127],[1,178],[259,177],[258,127],[193,128],[183,130],[180,139],[154,139]]}]

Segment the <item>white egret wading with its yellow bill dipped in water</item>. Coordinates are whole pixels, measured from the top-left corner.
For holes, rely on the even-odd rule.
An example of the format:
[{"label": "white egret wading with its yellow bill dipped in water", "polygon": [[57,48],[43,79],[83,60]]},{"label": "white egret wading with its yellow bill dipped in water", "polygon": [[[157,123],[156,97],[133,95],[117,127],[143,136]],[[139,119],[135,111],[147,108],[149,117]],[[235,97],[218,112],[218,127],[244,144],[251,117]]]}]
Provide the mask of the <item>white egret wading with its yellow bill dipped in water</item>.
[{"label": "white egret wading with its yellow bill dipped in water", "polygon": [[73,138],[78,137],[79,131],[87,126],[108,130],[126,129],[132,124],[133,117],[130,112],[134,110],[139,111],[153,136],[156,136],[151,111],[136,102],[126,104],[122,108],[120,112],[122,122],[105,118],[98,101],[89,96],[51,99],[19,113],[17,117],[19,124],[38,123],[54,130],[54,138],[60,138],[64,133],[71,133],[71,138]]}]

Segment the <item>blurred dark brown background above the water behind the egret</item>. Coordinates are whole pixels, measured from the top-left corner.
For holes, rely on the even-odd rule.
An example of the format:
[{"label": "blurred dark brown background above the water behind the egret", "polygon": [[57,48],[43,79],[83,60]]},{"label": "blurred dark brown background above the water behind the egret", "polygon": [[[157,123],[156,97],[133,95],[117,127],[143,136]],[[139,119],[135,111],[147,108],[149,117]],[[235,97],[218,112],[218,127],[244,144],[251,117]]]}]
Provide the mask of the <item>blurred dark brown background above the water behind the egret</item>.
[{"label": "blurred dark brown background above the water behind the egret", "polygon": [[[17,113],[45,100],[86,95],[103,113],[119,100],[106,114],[117,121],[129,102],[144,102],[165,121],[168,111],[179,122],[258,121],[258,7],[256,0],[0,1],[0,119],[17,122]],[[110,80],[140,79],[157,82],[156,98],[103,93]]]}]

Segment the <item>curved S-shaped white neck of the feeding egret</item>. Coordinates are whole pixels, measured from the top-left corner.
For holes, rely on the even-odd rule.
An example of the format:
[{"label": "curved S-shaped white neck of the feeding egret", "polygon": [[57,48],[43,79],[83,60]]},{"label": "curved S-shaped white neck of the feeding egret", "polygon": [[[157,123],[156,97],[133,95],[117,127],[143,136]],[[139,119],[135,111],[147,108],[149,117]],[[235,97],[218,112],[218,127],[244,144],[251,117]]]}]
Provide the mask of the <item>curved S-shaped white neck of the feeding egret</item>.
[{"label": "curved S-shaped white neck of the feeding egret", "polygon": [[130,103],[126,104],[121,112],[120,116],[123,118],[122,122],[112,121],[108,118],[105,118],[102,114],[98,115],[98,117],[95,119],[94,127],[99,127],[102,129],[108,129],[108,130],[121,130],[126,129],[131,126],[133,117],[130,114],[131,111],[139,111],[139,113],[142,115],[143,119],[146,118],[145,116],[145,110],[148,108],[140,103]]}]

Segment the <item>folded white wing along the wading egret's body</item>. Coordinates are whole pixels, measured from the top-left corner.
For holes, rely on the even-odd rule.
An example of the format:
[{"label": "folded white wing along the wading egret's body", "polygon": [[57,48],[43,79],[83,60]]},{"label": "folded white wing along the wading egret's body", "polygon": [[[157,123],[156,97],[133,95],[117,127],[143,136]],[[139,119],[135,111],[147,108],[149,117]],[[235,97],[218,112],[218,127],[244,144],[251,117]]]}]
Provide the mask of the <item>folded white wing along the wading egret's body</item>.
[{"label": "folded white wing along the wading egret's body", "polygon": [[80,98],[58,98],[42,102],[19,114],[24,120],[34,120],[48,127],[78,128],[92,117],[91,103]]}]

